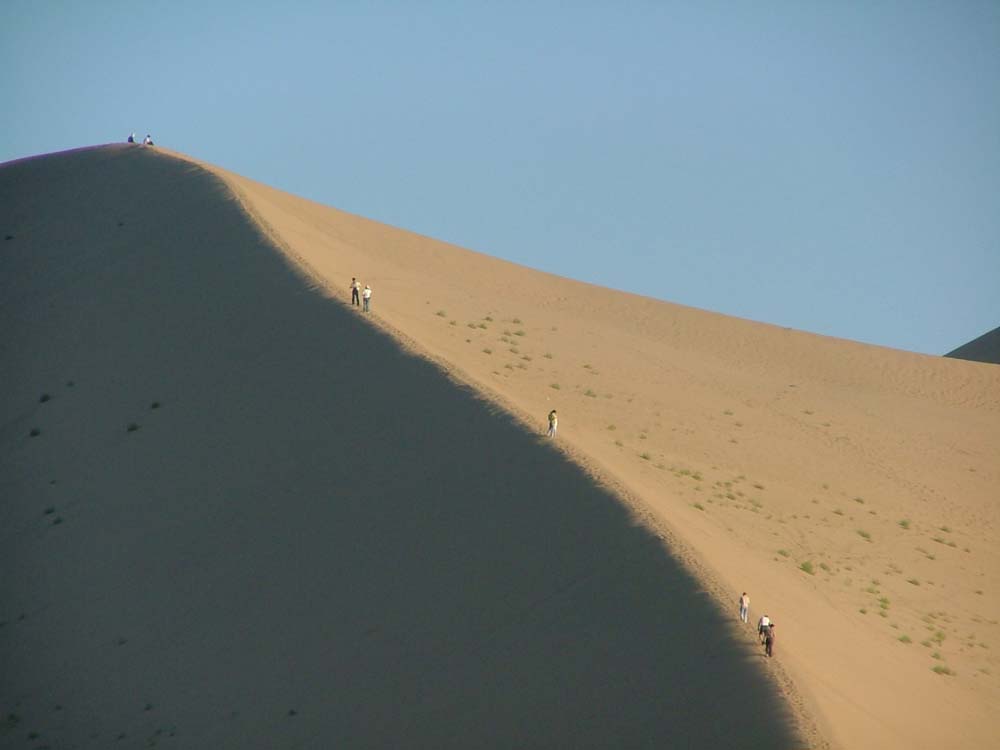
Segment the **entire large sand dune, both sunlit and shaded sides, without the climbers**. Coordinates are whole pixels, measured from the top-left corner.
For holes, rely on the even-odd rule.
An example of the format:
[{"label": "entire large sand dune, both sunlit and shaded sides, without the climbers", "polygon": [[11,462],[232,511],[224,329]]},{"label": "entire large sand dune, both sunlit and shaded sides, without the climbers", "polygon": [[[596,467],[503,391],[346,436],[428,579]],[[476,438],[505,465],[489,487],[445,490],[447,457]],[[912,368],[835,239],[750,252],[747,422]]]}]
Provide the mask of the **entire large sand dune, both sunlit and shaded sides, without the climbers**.
[{"label": "entire large sand dune, both sunlit and shaded sides, without the climbers", "polygon": [[159,148],[4,165],[0,234],[3,746],[1000,734],[1000,367]]}]

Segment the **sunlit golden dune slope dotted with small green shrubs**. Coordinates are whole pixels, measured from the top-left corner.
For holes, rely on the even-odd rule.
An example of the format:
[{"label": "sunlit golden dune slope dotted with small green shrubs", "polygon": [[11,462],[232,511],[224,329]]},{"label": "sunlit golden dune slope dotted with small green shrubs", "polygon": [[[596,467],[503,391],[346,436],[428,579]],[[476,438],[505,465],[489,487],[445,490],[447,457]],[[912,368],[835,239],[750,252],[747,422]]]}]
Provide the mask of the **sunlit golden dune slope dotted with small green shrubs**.
[{"label": "sunlit golden dune slope dotted with small green shrubs", "polygon": [[[575,282],[209,167],[317,284],[637,499],[839,747],[1000,731],[1000,368]],[[640,510],[640,512],[642,512]]]}]

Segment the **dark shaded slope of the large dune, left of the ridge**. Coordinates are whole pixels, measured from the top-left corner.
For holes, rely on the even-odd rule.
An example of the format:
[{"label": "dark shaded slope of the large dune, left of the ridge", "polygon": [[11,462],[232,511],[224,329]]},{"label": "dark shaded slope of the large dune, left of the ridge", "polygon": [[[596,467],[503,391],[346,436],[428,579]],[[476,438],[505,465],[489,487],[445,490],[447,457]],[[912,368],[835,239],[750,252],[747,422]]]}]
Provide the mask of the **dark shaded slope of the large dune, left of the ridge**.
[{"label": "dark shaded slope of the large dune, left of the ridge", "polygon": [[9,164],[0,234],[0,746],[797,744],[658,538],[214,176]]}]

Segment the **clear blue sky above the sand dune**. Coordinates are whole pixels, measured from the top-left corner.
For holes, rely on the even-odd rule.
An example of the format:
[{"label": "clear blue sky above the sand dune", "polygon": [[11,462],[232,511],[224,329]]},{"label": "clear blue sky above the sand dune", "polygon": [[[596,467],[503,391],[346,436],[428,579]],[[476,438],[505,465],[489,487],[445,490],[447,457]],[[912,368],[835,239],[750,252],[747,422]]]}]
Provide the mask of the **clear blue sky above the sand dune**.
[{"label": "clear blue sky above the sand dune", "polygon": [[150,132],[672,302],[929,354],[1000,325],[996,0],[3,0],[0,103],[0,161]]}]

